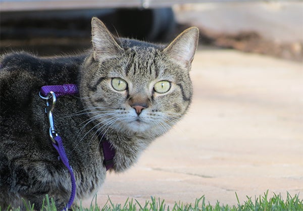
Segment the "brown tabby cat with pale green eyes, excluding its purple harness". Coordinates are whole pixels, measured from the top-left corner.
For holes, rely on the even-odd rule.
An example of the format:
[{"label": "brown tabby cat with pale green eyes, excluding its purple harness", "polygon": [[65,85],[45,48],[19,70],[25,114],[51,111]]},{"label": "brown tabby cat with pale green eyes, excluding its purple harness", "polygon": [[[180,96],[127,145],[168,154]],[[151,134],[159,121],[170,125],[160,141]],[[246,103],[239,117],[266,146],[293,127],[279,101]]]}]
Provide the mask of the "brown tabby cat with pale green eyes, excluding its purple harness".
[{"label": "brown tabby cat with pale green eyes, excluding its purple harness", "polygon": [[60,96],[54,109],[57,132],[73,168],[75,199],[104,183],[102,141],[115,150],[111,172],[123,172],[188,110],[189,77],[198,29],[170,44],[114,37],[92,18],[92,48],[82,55],[39,58],[26,52],[1,56],[0,206],[41,209],[45,195],[63,209],[71,179],[49,138],[44,85],[76,84],[78,94]]}]

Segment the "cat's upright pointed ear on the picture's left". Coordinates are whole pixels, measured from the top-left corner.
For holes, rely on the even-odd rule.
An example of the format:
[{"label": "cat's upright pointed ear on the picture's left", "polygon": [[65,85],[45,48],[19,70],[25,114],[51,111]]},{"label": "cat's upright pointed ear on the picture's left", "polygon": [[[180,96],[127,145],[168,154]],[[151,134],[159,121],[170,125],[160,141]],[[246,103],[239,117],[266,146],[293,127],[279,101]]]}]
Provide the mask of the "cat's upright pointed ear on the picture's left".
[{"label": "cat's upright pointed ear on the picture's left", "polygon": [[91,19],[93,58],[98,61],[116,57],[123,50],[102,21]]}]

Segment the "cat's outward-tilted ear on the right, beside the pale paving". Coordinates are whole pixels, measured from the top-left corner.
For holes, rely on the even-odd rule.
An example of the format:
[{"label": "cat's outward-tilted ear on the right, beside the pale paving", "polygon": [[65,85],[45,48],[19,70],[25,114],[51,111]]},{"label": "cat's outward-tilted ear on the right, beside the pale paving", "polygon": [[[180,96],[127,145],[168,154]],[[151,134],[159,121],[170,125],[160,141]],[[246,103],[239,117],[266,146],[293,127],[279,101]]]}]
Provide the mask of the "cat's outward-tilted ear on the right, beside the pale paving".
[{"label": "cat's outward-tilted ear on the right, beside the pale paving", "polygon": [[190,27],[177,36],[164,52],[182,67],[190,70],[195,51],[198,45],[199,30]]}]

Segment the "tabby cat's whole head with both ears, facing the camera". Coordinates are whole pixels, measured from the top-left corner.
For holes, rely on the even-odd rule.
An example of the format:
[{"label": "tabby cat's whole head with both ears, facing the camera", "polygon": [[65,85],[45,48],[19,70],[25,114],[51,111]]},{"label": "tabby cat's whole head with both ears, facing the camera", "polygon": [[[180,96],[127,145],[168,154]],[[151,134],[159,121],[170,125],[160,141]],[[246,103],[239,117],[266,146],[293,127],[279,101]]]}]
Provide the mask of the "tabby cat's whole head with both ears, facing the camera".
[{"label": "tabby cat's whole head with both ears, facing the camera", "polygon": [[93,52],[82,66],[80,94],[99,131],[155,137],[170,129],[191,102],[197,42],[195,27],[167,46],[115,38],[93,18]]}]

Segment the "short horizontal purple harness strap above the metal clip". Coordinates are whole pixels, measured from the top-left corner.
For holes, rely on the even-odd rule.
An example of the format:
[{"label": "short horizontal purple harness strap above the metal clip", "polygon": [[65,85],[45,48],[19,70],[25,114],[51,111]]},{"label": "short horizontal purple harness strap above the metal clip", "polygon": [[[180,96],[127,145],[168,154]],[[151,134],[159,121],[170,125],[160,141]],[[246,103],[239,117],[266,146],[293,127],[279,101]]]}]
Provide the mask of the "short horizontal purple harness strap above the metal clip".
[{"label": "short horizontal purple harness strap above the metal clip", "polygon": [[40,89],[42,96],[47,96],[51,91],[55,92],[56,97],[68,94],[73,95],[79,92],[76,84],[49,85],[42,86]]}]

